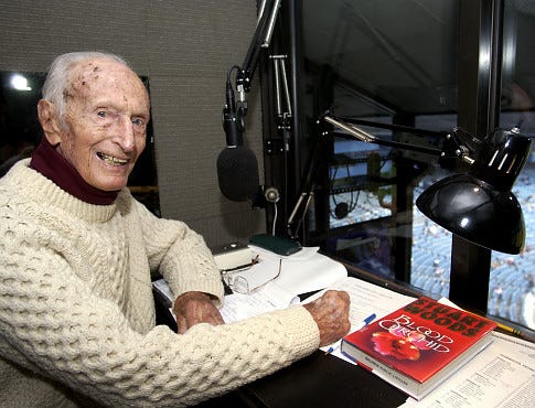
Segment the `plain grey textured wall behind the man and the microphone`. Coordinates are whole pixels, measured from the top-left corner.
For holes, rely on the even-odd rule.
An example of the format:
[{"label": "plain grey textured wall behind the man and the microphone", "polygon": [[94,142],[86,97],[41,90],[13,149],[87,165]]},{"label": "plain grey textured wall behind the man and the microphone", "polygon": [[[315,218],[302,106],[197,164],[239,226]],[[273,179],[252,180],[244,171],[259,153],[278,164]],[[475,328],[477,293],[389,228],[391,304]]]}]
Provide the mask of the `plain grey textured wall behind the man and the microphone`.
[{"label": "plain grey textured wall behind the man and the microphone", "polygon": [[[224,198],[215,163],[226,72],[245,57],[255,4],[1,0],[0,69],[44,72],[55,55],[79,50],[124,56],[150,79],[162,216],[186,222],[211,246],[246,240],[265,228],[264,212]],[[258,88],[248,96],[246,143],[261,160]]]}]

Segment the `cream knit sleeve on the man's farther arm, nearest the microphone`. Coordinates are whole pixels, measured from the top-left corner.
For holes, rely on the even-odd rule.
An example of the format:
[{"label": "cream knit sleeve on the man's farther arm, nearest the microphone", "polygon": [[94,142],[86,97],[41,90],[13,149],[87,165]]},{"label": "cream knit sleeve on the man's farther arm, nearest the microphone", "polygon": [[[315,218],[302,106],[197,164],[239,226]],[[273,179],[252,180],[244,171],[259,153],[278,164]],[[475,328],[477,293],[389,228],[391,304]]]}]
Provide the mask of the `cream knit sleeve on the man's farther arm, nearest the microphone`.
[{"label": "cream knit sleeve on the man's farther arm, nearest the microphone", "polygon": [[[133,206],[133,228],[145,241],[151,270],[160,272],[174,296],[188,291],[223,298],[221,275],[204,238],[183,222],[156,217],[128,192],[120,195],[122,203]],[[139,225],[138,225],[139,224]],[[136,234],[133,232],[132,234]]]}]

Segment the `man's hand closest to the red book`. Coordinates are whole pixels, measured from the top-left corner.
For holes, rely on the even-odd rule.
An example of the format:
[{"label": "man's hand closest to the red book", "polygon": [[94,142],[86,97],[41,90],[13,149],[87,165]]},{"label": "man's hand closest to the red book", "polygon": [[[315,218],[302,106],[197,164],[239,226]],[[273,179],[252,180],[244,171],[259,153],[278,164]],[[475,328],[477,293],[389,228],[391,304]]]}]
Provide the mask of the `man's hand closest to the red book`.
[{"label": "man's hand closest to the red book", "polygon": [[328,290],[321,298],[303,307],[312,314],[320,329],[320,347],[334,343],[351,329],[347,292]]}]

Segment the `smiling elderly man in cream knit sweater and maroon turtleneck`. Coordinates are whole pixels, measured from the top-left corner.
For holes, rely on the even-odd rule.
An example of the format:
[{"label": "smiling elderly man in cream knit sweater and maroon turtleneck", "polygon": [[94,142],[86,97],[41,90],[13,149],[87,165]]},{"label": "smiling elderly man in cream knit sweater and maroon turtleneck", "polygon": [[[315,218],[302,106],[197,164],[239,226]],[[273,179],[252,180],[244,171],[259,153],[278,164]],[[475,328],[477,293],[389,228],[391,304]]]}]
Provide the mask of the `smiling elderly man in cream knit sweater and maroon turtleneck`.
[{"label": "smiling elderly man in cream knit sweater and maroon turtleneck", "polygon": [[[223,288],[201,236],[126,189],[149,97],[119,57],[52,64],[31,159],[0,179],[0,395],[4,406],[183,406],[329,344],[349,297],[223,324]],[[150,271],[176,296],[179,332],[154,325]]]}]

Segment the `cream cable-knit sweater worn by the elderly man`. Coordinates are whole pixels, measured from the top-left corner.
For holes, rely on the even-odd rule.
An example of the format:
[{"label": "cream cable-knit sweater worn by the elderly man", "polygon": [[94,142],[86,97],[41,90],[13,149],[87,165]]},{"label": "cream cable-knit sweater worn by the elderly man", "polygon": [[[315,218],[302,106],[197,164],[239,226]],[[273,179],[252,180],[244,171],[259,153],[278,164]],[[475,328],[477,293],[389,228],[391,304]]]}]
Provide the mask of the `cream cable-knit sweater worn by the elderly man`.
[{"label": "cream cable-knit sweater worn by the elderly man", "polygon": [[184,335],[154,326],[149,270],[176,294],[221,301],[201,236],[127,190],[109,206],[84,203],[29,160],[0,179],[0,406],[192,405],[319,344],[301,307]]}]

